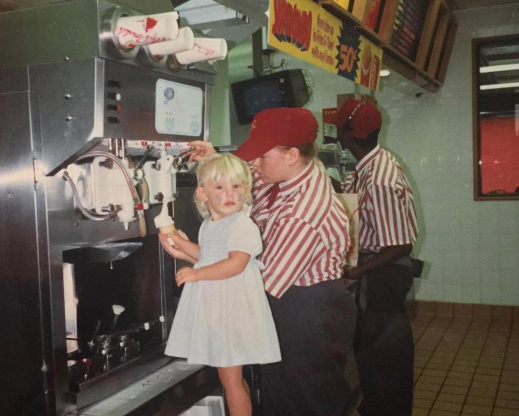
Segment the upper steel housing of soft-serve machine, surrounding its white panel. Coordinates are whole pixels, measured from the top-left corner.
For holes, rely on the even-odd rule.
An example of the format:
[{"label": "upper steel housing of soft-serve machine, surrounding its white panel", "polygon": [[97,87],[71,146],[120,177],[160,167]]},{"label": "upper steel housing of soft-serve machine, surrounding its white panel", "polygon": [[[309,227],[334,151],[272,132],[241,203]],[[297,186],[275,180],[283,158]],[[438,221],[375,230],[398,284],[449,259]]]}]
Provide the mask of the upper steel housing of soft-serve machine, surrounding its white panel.
[{"label": "upper steel housing of soft-serve machine, surrounding its white panel", "polygon": [[[159,79],[200,89],[200,134],[157,132],[155,91]],[[203,140],[207,135],[203,103],[208,87],[200,82],[93,58],[29,67],[28,84],[31,92],[37,94],[42,111],[42,163],[48,175],[58,172],[104,137],[187,142]],[[181,99],[180,95],[173,98]]]}]

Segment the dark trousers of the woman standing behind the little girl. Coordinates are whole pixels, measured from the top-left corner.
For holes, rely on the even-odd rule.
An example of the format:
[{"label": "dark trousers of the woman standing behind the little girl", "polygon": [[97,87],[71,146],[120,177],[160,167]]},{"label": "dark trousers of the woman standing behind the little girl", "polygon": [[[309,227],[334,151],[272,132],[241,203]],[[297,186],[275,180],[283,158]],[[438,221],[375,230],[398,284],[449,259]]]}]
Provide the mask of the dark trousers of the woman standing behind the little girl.
[{"label": "dark trousers of the woman standing behind the little girl", "polygon": [[344,416],[356,307],[343,280],[268,295],[282,361],[262,371],[263,416]]}]

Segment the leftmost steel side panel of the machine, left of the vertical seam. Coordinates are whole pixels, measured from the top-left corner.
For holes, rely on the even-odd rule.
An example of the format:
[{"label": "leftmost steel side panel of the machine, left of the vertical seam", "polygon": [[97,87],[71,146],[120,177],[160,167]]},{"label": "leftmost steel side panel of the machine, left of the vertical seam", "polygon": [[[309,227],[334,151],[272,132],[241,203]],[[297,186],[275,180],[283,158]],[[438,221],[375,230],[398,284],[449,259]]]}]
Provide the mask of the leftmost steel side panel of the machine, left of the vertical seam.
[{"label": "leftmost steel side panel of the machine, left of the vertical seam", "polygon": [[[44,339],[40,316],[47,287],[40,273],[33,170],[33,132],[27,92],[0,94],[0,414],[45,404]],[[4,115],[9,115],[5,117]],[[44,254],[44,253],[43,253]],[[12,398],[16,398],[13,400]],[[29,413],[28,413],[29,414]]]}]

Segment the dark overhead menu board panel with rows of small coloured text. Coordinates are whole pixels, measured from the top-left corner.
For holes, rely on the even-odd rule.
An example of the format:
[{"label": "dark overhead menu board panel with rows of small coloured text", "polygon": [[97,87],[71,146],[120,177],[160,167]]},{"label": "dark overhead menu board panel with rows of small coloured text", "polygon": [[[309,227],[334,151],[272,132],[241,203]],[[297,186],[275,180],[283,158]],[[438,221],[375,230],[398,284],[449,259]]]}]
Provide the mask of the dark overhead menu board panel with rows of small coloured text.
[{"label": "dark overhead menu board panel with rows of small coloured text", "polygon": [[428,0],[399,0],[391,46],[414,61],[427,13]]}]

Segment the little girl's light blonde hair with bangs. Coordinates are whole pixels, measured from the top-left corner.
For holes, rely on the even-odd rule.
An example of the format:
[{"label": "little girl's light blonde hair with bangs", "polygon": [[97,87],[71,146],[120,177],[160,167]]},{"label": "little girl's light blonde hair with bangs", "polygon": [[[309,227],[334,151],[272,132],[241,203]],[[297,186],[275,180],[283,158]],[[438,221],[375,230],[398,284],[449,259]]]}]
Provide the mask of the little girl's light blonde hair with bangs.
[{"label": "little girl's light blonde hair with bangs", "polygon": [[[208,182],[241,182],[245,188],[243,195],[243,210],[247,211],[252,206],[252,174],[247,163],[240,158],[224,153],[209,156],[198,164],[196,171],[198,186],[202,188]],[[195,192],[195,204],[202,218],[209,218],[211,213],[207,204],[203,202]]]}]

